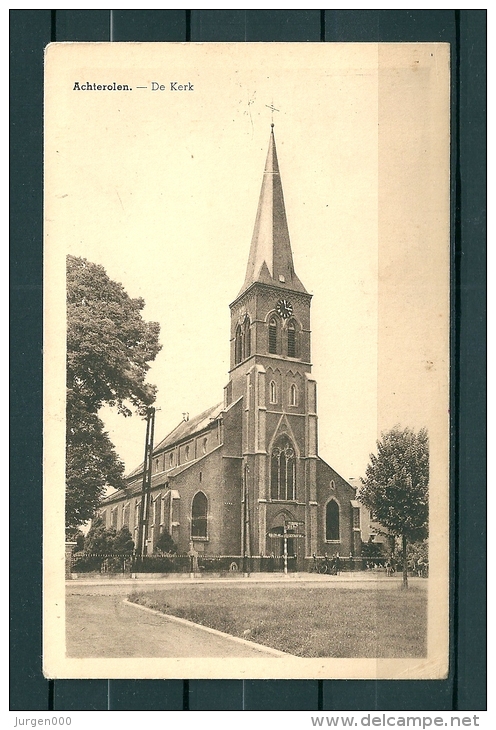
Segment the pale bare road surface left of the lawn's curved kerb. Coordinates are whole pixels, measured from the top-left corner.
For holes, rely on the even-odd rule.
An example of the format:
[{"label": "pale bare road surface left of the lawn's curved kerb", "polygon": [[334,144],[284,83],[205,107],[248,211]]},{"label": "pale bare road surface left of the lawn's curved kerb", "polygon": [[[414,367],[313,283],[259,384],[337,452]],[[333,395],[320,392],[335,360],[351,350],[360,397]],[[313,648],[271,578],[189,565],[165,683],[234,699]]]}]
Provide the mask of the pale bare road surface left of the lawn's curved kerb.
[{"label": "pale bare road surface left of the lawn's curved kerb", "polygon": [[127,585],[67,587],[68,657],[252,657],[270,650],[124,603]]}]

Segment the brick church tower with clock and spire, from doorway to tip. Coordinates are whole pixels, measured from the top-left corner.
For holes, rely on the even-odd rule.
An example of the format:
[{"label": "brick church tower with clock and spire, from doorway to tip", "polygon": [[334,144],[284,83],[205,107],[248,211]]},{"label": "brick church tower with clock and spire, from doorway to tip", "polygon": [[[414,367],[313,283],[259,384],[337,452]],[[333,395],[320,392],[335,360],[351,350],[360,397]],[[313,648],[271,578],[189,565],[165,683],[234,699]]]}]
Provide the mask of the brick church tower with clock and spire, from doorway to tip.
[{"label": "brick church tower with clock and spire, from doorway to tip", "polygon": [[316,383],[310,303],[296,275],[272,125],[246,277],[231,308],[225,405],[243,398],[242,535],[247,555],[278,555],[284,525],[303,558],[317,550]]}]

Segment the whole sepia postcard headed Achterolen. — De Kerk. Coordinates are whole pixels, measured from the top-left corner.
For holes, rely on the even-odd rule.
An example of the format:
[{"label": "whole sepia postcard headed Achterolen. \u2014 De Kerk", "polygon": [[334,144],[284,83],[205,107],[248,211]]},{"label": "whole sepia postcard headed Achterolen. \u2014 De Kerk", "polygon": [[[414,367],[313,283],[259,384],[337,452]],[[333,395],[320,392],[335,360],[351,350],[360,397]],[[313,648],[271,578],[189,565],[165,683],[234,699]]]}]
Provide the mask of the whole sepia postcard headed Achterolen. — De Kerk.
[{"label": "whole sepia postcard headed Achterolen. \u2014 De Kerk", "polygon": [[46,677],[447,676],[449,58],[47,47]]}]

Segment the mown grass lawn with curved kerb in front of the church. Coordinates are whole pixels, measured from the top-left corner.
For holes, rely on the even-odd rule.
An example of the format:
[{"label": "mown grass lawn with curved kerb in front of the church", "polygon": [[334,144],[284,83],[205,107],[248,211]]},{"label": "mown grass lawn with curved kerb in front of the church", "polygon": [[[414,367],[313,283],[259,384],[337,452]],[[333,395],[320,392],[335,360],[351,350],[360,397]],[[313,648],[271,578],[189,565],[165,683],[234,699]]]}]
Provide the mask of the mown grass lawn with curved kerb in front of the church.
[{"label": "mown grass lawn with curved kerb in front of the church", "polygon": [[427,592],[420,587],[174,585],[130,601],[301,657],[422,657]]}]

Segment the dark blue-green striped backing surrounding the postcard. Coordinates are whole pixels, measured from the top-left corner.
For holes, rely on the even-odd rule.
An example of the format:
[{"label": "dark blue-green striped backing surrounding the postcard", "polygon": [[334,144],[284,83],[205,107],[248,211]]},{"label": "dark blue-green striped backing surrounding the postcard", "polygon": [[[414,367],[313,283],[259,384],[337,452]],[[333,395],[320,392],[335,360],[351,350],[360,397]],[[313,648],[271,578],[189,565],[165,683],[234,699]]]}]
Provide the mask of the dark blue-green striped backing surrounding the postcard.
[{"label": "dark blue-green striped backing surrounding the postcard", "polygon": [[[442,41],[452,59],[451,661],[445,681],[41,673],[43,49],[50,41]],[[486,11],[11,10],[10,709],[486,709]]]}]

